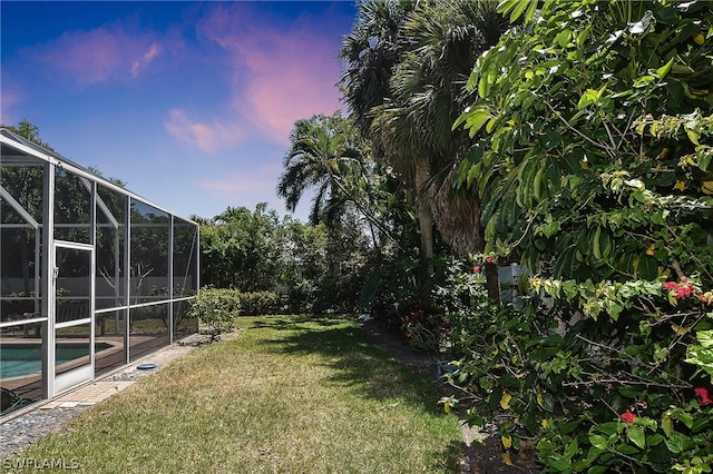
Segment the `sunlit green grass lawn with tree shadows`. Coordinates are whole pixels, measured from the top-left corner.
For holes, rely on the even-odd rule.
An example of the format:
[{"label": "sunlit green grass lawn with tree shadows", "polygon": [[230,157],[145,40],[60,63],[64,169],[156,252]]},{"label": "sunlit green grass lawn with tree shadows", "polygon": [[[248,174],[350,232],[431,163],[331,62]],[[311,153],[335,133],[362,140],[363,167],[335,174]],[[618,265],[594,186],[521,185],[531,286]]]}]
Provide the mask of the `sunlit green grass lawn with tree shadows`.
[{"label": "sunlit green grass lawn with tree shadows", "polygon": [[457,472],[433,386],[348,319],[244,317],[20,457],[87,473]]}]

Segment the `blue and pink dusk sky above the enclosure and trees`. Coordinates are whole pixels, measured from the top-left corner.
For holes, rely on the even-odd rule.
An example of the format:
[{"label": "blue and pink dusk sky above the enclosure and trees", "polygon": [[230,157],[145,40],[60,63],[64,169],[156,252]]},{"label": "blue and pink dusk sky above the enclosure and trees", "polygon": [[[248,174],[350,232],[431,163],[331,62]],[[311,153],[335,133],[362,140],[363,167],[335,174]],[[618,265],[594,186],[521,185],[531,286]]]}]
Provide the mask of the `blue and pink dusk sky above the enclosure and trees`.
[{"label": "blue and pink dusk sky above the enclosure and trees", "polygon": [[[344,108],[353,1],[0,2],[0,122],[188,217],[275,195],[295,120]],[[310,196],[295,217],[305,220]]]}]

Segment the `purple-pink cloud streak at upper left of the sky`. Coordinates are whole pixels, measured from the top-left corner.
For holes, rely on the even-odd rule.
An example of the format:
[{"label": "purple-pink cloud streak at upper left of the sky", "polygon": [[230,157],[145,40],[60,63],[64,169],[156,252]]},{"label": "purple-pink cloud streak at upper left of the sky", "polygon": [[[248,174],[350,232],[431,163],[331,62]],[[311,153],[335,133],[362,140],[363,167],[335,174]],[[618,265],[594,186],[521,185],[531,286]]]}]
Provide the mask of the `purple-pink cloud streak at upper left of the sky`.
[{"label": "purple-pink cloud streak at upper left of the sky", "polygon": [[36,56],[59,75],[81,86],[91,86],[136,78],[160,52],[159,46],[147,34],[105,26],[66,32]]}]

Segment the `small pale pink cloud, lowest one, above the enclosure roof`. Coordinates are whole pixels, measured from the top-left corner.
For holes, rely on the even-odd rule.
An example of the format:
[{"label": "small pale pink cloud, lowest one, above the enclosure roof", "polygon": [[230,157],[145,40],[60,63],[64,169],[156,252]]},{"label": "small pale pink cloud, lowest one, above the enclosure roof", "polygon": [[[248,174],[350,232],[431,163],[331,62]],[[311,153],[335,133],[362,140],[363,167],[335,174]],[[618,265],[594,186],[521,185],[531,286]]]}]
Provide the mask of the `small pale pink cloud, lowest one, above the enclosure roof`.
[{"label": "small pale pink cloud, lowest one, above the enclosure roof", "polygon": [[202,124],[191,120],[188,115],[179,109],[168,112],[164,127],[179,140],[207,152],[215,152],[221,148],[235,145],[244,137],[244,131],[237,124],[219,121]]}]

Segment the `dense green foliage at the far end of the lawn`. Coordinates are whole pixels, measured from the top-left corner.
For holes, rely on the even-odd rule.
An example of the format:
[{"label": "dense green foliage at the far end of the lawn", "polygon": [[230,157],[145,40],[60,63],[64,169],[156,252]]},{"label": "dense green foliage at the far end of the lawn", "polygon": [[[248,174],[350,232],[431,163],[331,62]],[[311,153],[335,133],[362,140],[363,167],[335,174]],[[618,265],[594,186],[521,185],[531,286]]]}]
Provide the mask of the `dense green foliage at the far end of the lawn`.
[{"label": "dense green foliage at the far end of the lawn", "polygon": [[[352,219],[352,220],[350,220]],[[285,217],[265,204],[228,208],[201,221],[202,284],[245,295],[280,295],[280,304],[250,305],[270,313],[353,313],[372,248],[364,228],[348,216],[331,228]],[[258,302],[261,298],[257,298]],[[252,300],[252,297],[251,297]]]}]

